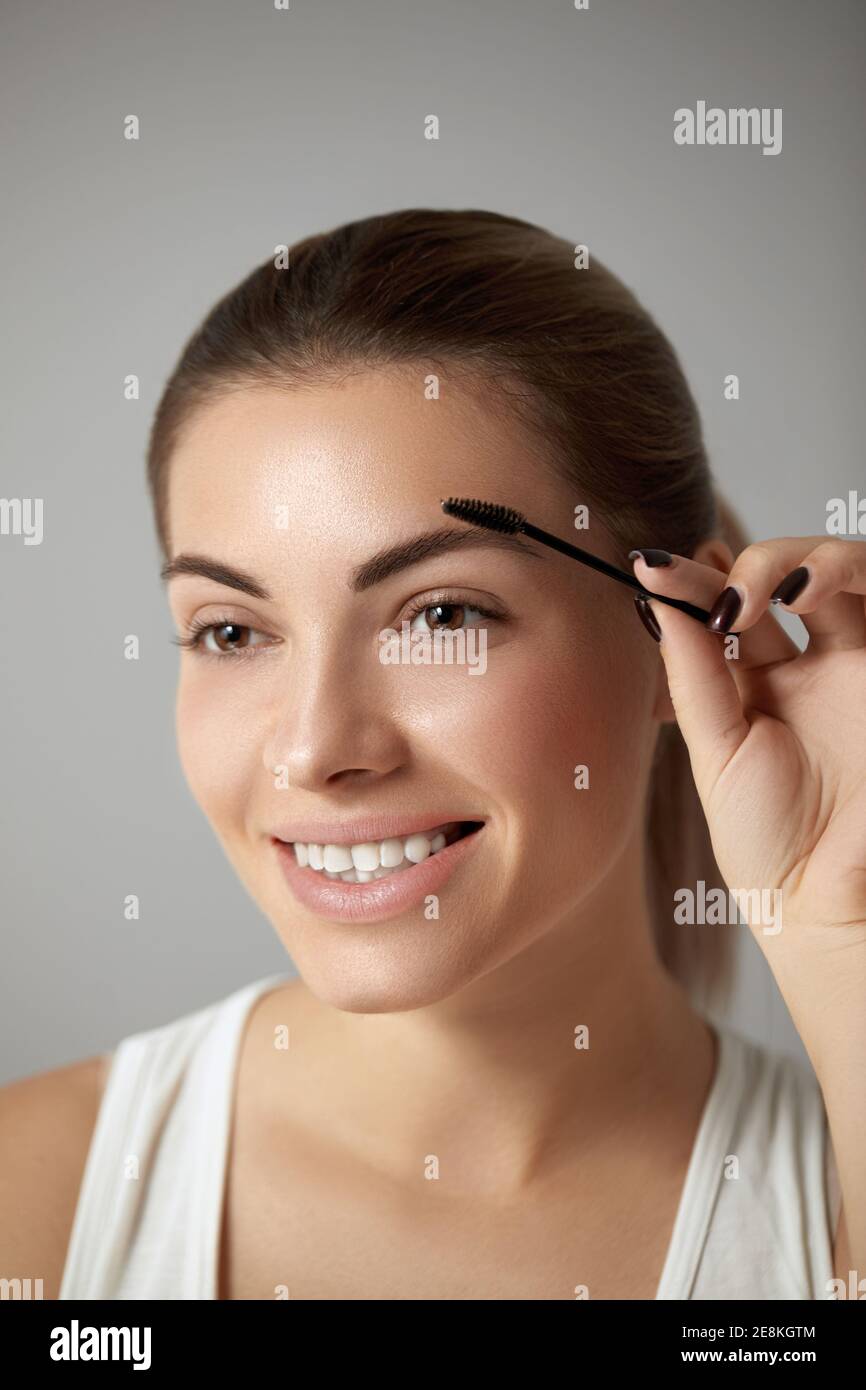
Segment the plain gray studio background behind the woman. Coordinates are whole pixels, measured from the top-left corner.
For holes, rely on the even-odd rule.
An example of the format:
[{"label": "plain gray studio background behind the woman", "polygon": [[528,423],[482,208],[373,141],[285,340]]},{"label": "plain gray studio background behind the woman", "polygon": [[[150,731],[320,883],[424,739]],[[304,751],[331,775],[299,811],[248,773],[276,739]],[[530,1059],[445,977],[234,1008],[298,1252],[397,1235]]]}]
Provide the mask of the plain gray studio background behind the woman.
[{"label": "plain gray studio background behind the woman", "polygon": [[[828,498],[865,491],[866,7],[6,0],[1,25],[0,495],[44,499],[40,546],[0,537],[11,1079],[291,969],[174,748],[143,452],[203,313],[277,243],[371,213],[524,217],[657,317],[752,537],[820,532]],[[781,107],[781,153],[676,146],[674,110],[701,99]],[[731,1020],[805,1059],[738,937]]]}]

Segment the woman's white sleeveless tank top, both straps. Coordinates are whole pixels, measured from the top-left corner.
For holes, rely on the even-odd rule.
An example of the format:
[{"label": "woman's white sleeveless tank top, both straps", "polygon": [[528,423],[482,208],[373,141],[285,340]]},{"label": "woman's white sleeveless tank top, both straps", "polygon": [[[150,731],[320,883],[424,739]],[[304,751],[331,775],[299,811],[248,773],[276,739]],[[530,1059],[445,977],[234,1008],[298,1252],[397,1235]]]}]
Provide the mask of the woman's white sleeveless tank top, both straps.
[{"label": "woman's white sleeveless tank top, both straps", "polygon": [[[60,1298],[217,1297],[243,1026],[289,979],[256,980],[110,1055]],[[716,1031],[655,1297],[827,1298],[841,1198],[817,1081],[792,1058]]]}]

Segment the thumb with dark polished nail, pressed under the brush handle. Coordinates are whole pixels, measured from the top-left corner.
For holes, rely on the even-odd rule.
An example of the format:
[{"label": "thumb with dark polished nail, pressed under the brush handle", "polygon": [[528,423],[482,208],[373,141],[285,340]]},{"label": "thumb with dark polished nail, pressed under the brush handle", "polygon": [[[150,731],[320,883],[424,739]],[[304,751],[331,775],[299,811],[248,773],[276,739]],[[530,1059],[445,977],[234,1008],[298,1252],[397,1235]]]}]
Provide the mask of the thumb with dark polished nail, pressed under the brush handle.
[{"label": "thumb with dark polished nail, pressed under the brush handle", "polygon": [[[749,733],[724,642],[688,613],[642,600],[655,617],[677,724],[699,791],[709,791]],[[635,598],[635,603],[639,600]]]}]

